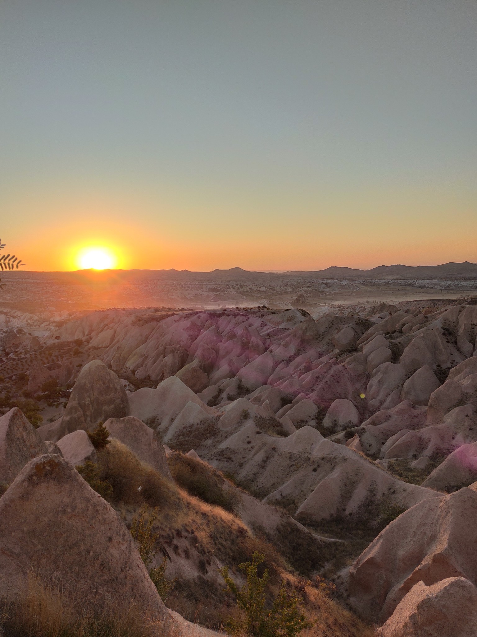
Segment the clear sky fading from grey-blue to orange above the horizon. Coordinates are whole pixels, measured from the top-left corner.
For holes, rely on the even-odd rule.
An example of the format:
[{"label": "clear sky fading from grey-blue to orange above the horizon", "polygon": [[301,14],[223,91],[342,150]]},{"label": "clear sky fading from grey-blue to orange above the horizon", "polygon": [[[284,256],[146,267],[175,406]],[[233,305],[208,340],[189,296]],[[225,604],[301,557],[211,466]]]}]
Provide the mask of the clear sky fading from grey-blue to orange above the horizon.
[{"label": "clear sky fading from grey-blue to orange above the horizon", "polygon": [[475,0],[0,0],[28,269],[477,262]]}]

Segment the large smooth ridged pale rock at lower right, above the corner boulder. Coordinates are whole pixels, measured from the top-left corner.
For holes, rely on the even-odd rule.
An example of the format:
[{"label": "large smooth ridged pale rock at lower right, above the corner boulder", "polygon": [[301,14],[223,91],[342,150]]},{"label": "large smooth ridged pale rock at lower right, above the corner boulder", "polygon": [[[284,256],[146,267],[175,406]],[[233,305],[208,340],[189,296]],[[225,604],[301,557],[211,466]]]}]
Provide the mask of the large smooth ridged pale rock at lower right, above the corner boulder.
[{"label": "large smooth ridged pale rock at lower right, above the corner boulder", "polygon": [[417,584],[477,578],[477,493],[424,500],[391,522],[350,569],[350,603],[384,622]]}]

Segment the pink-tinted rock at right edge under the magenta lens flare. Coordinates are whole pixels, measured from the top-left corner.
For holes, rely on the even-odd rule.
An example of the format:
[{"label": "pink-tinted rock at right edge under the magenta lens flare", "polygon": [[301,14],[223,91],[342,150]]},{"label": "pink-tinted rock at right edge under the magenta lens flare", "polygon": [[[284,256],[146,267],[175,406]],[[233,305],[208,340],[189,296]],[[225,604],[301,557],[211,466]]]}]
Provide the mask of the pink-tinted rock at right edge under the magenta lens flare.
[{"label": "pink-tinted rock at right edge under the magenta lens flare", "polygon": [[477,442],[462,445],[427,476],[422,484],[428,489],[447,491],[468,487],[477,480]]}]

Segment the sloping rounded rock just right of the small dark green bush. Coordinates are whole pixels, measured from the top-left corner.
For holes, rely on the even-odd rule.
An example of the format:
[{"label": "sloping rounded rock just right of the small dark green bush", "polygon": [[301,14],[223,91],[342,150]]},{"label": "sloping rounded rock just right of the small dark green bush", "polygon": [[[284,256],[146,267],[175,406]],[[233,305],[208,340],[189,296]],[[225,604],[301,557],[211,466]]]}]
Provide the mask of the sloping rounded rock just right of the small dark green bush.
[{"label": "sloping rounded rock just right of the small dark green bush", "polygon": [[109,418],[104,426],[109,431],[109,438],[119,440],[130,448],[141,462],[172,479],[162,442],[155,431],[146,426],[142,420],[134,416]]}]

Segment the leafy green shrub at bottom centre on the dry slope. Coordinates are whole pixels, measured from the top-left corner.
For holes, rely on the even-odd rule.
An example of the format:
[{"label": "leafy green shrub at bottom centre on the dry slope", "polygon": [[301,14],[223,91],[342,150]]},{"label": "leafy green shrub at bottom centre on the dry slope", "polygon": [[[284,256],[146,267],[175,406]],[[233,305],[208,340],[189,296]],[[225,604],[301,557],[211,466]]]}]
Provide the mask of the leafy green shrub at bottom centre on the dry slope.
[{"label": "leafy green shrub at bottom centre on the dry slope", "polygon": [[285,582],[279,594],[267,608],[265,587],[268,582],[268,570],[259,577],[257,568],[265,557],[258,552],[252,555],[251,562],[240,564],[240,570],[247,576],[247,582],[239,589],[228,574],[228,567],[221,569],[227,590],[235,596],[240,618],[230,618],[226,629],[230,634],[245,634],[251,637],[293,637],[310,626],[298,606],[298,597],[289,594]]}]

